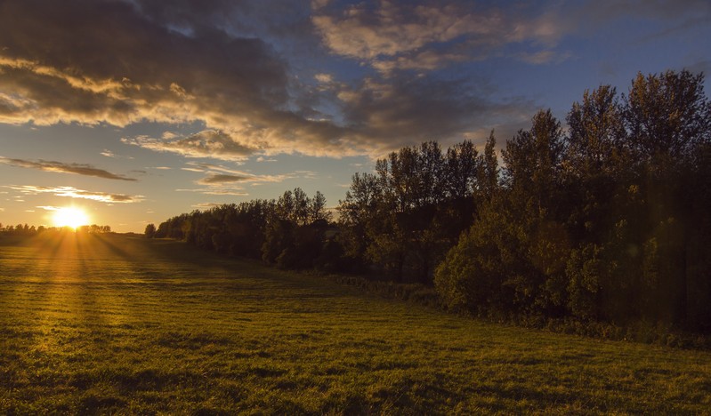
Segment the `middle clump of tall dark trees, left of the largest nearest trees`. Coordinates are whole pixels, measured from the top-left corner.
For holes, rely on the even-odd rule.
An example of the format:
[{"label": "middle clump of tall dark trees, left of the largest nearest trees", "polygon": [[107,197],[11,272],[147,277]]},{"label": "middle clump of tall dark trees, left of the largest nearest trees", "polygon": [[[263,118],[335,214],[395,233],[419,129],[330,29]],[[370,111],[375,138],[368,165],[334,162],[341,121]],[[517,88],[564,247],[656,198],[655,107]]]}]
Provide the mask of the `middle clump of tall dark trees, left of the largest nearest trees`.
[{"label": "middle clump of tall dark trees, left of the largest nearest trees", "polygon": [[[492,134],[491,152],[493,143]],[[481,175],[496,175],[496,164],[489,171],[483,165],[471,141],[446,154],[430,141],[378,160],[375,173],[353,175],[337,208],[339,241],[351,263],[397,282],[431,284],[444,253],[472,224]]]}]

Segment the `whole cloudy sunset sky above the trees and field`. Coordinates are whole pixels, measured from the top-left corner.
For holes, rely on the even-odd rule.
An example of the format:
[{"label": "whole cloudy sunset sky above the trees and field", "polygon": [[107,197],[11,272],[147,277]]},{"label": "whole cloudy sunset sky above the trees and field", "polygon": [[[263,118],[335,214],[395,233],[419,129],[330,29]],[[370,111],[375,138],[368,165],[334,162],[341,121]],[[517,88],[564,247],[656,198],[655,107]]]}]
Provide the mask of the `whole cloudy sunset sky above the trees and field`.
[{"label": "whole cloudy sunset sky above the trees and field", "polygon": [[0,0],[0,223],[334,207],[393,150],[503,147],[586,89],[709,74],[709,39],[708,0]]}]

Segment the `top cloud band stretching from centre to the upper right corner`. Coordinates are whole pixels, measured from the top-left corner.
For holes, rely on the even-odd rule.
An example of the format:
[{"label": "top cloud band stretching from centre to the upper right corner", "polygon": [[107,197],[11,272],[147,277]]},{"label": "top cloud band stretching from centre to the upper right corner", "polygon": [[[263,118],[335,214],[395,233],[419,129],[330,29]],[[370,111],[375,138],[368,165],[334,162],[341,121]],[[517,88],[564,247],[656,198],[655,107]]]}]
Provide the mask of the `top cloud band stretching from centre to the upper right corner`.
[{"label": "top cloud band stretching from centre to the upper right corner", "polygon": [[658,36],[707,27],[707,0],[602,0],[473,4],[383,1],[316,10],[311,18],[331,52],[383,74],[432,71],[460,62],[508,57],[531,65],[559,63],[566,36],[594,36],[611,22],[657,20]]}]

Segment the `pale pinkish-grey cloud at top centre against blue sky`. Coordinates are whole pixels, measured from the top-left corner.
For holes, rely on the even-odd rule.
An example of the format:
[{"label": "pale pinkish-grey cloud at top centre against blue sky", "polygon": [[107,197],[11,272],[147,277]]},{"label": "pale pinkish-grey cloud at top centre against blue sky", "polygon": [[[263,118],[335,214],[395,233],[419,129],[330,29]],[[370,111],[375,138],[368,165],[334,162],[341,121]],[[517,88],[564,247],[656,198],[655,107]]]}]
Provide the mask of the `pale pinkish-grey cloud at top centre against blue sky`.
[{"label": "pale pinkish-grey cloud at top centre against blue sky", "polygon": [[564,35],[555,10],[516,6],[482,7],[470,2],[355,4],[312,18],[334,53],[383,72],[441,68],[481,60],[507,44],[553,46]]}]

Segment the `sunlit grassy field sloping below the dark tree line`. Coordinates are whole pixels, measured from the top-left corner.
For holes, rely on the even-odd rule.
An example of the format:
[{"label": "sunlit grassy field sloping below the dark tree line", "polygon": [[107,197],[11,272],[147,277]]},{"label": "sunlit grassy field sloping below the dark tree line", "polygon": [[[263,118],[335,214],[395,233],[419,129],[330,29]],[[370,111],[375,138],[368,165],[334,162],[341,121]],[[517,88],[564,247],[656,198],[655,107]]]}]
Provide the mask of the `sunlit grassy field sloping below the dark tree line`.
[{"label": "sunlit grassy field sloping below the dark tree line", "polygon": [[711,353],[483,324],[172,241],[0,237],[0,412],[707,413]]}]

